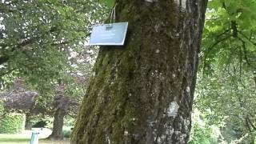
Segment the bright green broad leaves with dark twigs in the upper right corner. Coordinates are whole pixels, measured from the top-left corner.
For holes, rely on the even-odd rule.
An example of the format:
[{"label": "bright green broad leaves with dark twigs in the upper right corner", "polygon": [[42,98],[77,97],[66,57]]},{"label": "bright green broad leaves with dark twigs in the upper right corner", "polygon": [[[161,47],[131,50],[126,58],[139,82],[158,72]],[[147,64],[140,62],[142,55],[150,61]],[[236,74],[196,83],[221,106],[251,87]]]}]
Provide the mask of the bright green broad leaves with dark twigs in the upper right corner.
[{"label": "bright green broad leaves with dark twigs in the upper right corner", "polygon": [[202,38],[202,70],[205,74],[239,63],[242,70],[256,69],[255,0],[209,2]]}]

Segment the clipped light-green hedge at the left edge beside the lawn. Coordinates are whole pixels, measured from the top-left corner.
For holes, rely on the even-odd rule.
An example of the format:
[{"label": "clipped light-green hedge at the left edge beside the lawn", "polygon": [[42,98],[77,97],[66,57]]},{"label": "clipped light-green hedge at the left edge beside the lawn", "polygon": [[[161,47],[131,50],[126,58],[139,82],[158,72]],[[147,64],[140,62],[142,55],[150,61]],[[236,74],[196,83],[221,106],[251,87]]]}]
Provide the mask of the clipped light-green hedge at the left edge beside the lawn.
[{"label": "clipped light-green hedge at the left edge beside the lawn", "polygon": [[25,117],[22,114],[4,114],[0,119],[0,134],[16,134],[24,130]]}]

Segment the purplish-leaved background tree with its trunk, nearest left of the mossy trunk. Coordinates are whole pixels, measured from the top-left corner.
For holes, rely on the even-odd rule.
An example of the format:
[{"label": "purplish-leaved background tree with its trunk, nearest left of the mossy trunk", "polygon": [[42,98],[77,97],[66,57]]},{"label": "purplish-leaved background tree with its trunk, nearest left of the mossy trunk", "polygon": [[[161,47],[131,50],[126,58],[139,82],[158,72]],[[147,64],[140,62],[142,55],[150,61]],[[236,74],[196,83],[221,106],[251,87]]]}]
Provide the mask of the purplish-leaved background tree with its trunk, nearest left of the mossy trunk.
[{"label": "purplish-leaved background tree with its trunk, nearest left of the mossy trunk", "polygon": [[78,106],[82,99],[80,95],[85,94],[84,90],[86,90],[86,79],[74,74],[73,77],[75,82],[72,84],[75,88],[70,86],[70,82],[65,83],[62,80],[59,80],[58,85],[55,86],[54,102],[52,102],[54,111],[53,131],[49,136],[51,139],[63,139],[62,127],[66,115],[71,118],[77,117]]}]

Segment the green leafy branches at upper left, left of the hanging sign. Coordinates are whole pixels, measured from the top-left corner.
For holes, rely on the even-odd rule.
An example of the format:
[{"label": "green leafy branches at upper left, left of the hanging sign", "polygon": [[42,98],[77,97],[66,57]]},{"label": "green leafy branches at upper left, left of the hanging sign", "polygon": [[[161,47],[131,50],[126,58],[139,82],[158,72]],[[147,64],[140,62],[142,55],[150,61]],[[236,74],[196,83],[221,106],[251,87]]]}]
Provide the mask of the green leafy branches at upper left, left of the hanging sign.
[{"label": "green leafy branches at upper left, left of the hanging sign", "polygon": [[74,38],[82,40],[78,35],[85,35],[78,32],[82,27],[72,16],[73,8],[59,1],[43,0],[15,1],[10,6],[4,3],[2,7],[1,56],[7,58],[2,73],[17,69],[18,73],[12,74],[30,76],[33,84],[58,76],[58,71],[66,67],[65,47],[72,46]]}]

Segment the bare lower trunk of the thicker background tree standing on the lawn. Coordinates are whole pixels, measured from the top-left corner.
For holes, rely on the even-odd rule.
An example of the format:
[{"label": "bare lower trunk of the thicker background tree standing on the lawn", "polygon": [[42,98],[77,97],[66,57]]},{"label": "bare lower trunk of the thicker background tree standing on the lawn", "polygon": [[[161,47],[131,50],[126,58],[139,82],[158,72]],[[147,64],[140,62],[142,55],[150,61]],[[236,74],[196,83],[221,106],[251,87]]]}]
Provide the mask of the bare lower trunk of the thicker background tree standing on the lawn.
[{"label": "bare lower trunk of the thicker background tree standing on the lawn", "polygon": [[62,127],[64,122],[65,111],[62,108],[58,108],[54,114],[54,126],[53,131],[49,138],[54,140],[63,139]]}]

